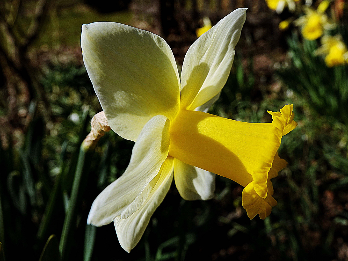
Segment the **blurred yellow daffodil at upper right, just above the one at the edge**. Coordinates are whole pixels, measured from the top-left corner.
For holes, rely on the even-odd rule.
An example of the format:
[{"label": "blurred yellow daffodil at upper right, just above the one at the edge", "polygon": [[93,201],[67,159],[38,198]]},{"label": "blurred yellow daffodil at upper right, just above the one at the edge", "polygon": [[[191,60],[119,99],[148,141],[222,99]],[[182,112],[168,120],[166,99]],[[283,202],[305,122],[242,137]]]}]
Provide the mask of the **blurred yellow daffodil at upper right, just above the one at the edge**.
[{"label": "blurred yellow daffodil at upper right, just above the one at the edge", "polygon": [[321,37],[324,30],[331,30],[336,27],[335,23],[329,21],[329,18],[325,14],[327,7],[329,7],[330,1],[322,1],[317,10],[310,7],[304,7],[306,15],[294,21],[296,26],[302,27],[302,35],[307,40],[315,40]]}]

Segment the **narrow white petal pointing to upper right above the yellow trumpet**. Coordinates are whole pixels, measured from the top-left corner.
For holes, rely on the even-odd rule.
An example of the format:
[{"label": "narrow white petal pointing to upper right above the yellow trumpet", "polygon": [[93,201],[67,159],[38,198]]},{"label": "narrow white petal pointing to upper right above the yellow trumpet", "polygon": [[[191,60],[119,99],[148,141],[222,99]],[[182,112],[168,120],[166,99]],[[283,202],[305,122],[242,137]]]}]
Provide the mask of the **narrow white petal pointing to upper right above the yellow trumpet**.
[{"label": "narrow white petal pointing to upper right above the yellow trumpet", "polygon": [[181,108],[203,105],[225,85],[245,18],[246,9],[238,8],[191,45],[182,66]]}]

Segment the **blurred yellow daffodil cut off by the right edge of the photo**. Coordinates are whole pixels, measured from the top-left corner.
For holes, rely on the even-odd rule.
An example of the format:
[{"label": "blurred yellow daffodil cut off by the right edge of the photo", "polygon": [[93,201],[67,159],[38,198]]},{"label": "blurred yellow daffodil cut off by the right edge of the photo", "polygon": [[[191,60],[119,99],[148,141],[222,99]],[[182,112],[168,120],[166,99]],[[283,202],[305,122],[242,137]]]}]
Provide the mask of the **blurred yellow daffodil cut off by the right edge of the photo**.
[{"label": "blurred yellow daffodil cut off by the right edge of the photo", "polygon": [[348,49],[342,41],[341,35],[332,37],[324,35],[321,39],[322,46],[315,50],[316,55],[325,55],[327,67],[348,63]]}]

